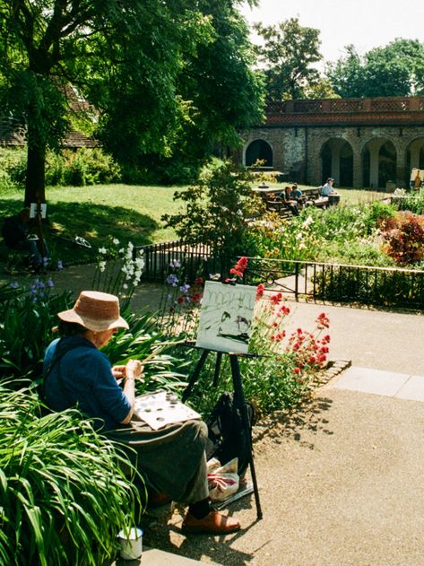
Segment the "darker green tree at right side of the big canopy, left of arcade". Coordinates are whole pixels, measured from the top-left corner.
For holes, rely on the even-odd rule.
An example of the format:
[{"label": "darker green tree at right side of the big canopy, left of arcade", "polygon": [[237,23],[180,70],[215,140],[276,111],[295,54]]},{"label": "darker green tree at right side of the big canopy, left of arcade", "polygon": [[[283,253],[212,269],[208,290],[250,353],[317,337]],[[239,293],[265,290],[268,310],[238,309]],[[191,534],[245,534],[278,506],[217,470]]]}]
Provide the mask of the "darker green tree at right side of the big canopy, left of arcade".
[{"label": "darker green tree at right side of the big canopy, left of arcade", "polygon": [[[255,53],[247,22],[234,0],[203,0],[198,7],[211,18],[212,41],[203,42],[178,76],[182,100],[190,100],[180,123],[171,156],[146,155],[171,182],[188,176],[192,180],[205,157],[225,154],[240,143],[238,131],[263,120],[264,81],[255,73]],[[177,176],[177,179],[175,179]]]}]

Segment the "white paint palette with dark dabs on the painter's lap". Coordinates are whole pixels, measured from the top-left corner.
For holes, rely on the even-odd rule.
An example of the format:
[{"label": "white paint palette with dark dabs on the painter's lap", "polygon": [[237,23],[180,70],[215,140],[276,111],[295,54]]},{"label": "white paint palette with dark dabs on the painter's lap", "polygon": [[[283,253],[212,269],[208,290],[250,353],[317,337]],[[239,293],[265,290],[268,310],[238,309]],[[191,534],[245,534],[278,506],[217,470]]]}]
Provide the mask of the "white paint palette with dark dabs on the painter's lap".
[{"label": "white paint palette with dark dabs on the painter's lap", "polygon": [[146,422],[153,431],[158,431],[167,424],[186,422],[202,418],[192,408],[181,401],[170,391],[155,391],[147,395],[137,396],[134,412]]}]

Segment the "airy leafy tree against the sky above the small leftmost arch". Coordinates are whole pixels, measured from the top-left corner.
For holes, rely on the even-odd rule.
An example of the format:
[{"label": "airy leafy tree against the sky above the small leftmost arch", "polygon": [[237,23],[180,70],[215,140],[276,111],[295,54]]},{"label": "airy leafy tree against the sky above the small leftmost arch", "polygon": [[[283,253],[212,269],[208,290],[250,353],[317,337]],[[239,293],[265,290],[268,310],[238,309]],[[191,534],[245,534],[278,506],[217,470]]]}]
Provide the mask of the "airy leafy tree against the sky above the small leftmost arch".
[{"label": "airy leafy tree against the sky above the small leftmost arch", "polygon": [[268,99],[305,98],[306,89],[320,80],[318,70],[312,66],[323,58],[319,30],[302,27],[298,18],[277,26],[256,23],[254,28],[264,39],[264,45],[256,46],[256,51],[264,65]]}]

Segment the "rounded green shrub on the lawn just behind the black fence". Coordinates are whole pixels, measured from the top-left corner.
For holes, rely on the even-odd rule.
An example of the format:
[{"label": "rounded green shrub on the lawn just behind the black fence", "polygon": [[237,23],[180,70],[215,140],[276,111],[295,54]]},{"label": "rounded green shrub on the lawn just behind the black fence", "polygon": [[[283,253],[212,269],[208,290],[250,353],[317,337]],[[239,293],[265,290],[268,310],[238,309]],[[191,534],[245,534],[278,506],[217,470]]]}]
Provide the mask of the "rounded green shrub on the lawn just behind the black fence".
[{"label": "rounded green shrub on the lawn just behind the black fence", "polygon": [[253,206],[252,178],[229,161],[207,170],[195,186],[177,192],[186,209],[162,219],[186,243],[211,246],[217,256],[246,253],[247,218]]}]

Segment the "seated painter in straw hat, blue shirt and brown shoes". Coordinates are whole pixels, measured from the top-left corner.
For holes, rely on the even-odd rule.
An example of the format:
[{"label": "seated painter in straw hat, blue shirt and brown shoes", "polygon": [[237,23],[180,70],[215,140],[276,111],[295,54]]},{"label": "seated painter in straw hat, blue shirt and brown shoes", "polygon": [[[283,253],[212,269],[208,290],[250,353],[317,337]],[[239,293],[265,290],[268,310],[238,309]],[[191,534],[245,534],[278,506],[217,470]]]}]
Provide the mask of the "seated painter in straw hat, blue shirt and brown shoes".
[{"label": "seated painter in straw hat, blue shirt and brown shoes", "polygon": [[[134,464],[156,488],[156,499],[188,504],[183,531],[226,535],[238,530],[237,519],[211,508],[206,424],[191,420],[151,429],[134,414],[134,379],[142,378],[141,362],[130,360],[125,366],[112,367],[100,352],[118,328],[128,328],[119,314],[117,297],[83,291],[72,309],[57,316],[62,337],[48,345],[43,365],[49,408],[63,411],[78,405],[102,433],[133,448]],[[128,457],[134,459],[133,450]]]}]

